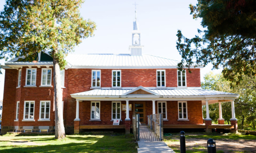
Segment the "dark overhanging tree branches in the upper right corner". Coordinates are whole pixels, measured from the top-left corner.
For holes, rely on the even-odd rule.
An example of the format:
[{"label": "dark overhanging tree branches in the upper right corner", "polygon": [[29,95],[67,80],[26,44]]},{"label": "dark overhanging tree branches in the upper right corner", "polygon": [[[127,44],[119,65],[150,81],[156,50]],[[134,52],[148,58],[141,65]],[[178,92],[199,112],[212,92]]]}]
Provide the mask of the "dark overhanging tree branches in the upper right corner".
[{"label": "dark overhanging tree branches in the upper right corner", "polygon": [[[182,55],[178,64],[185,66],[222,66],[223,76],[239,82],[243,75],[256,74],[256,1],[253,0],[197,0],[190,4],[194,18],[201,18],[204,31],[188,39],[178,30],[177,49]],[[202,35],[201,35],[202,34]]]}]

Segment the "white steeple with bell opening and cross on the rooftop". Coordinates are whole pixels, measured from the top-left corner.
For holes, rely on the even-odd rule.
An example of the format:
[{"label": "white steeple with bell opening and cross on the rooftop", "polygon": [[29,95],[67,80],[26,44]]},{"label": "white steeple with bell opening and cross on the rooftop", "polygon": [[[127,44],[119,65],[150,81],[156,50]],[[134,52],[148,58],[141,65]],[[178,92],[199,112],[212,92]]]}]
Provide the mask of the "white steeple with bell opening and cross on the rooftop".
[{"label": "white steeple with bell opening and cross on the rooftop", "polygon": [[135,5],[135,21],[133,22],[132,31],[132,45],[129,46],[131,55],[142,55],[143,46],[141,45],[141,32],[139,31],[138,21],[137,21],[137,10]]}]

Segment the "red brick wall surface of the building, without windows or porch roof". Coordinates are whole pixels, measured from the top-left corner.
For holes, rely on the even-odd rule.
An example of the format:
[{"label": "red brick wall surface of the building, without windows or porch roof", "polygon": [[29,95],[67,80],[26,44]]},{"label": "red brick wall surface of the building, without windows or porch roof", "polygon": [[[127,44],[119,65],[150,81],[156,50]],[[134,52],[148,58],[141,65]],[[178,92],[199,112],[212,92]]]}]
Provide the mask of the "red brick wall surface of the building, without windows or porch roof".
[{"label": "red brick wall surface of the building, without windows or porch roof", "polygon": [[[41,73],[42,68],[37,68],[37,87],[24,87],[26,68],[23,67],[21,70],[21,87],[16,89],[19,71],[17,69],[6,69],[5,76],[5,92],[3,98],[3,124],[2,126],[54,126],[55,125],[55,114],[54,114],[54,102],[53,102],[53,87],[39,87],[41,86]],[[167,87],[177,86],[177,69],[165,69]],[[112,69],[101,69],[101,87],[111,87],[112,83]],[[66,69],[65,70],[65,87],[63,90],[63,100],[64,100],[64,124],[66,126],[74,126],[75,112],[76,112],[76,101],[71,98],[70,94],[76,92],[83,92],[92,90],[91,87],[91,75],[92,69]],[[53,73],[52,73],[52,85],[53,85]],[[122,87],[156,87],[156,69],[122,69]],[[200,87],[200,69],[192,69],[192,73],[187,72],[187,86],[188,87]],[[35,101],[35,111],[34,119],[35,122],[22,122],[24,113],[24,101],[33,100]],[[38,122],[39,119],[39,106],[41,100],[51,100],[51,112],[50,112],[50,122]],[[14,122],[16,114],[16,101],[20,101],[20,112],[19,112],[19,122]],[[133,101],[129,102],[133,104]],[[169,104],[170,103],[170,104]],[[177,103],[168,101],[168,115],[170,112],[174,112],[171,117],[168,117],[168,124],[183,124],[183,122],[177,122],[176,115],[178,115]],[[125,104],[125,101],[122,101]],[[188,102],[190,105],[190,102]],[[197,106],[197,105],[195,105]],[[198,105],[199,106],[199,105]],[[201,104],[200,104],[201,106]],[[193,105],[194,107],[194,105]],[[189,106],[188,106],[189,108]],[[156,103],[157,109],[157,103]],[[195,110],[188,110],[189,122],[184,122],[184,124],[191,123],[201,123],[201,108],[200,111],[196,108]],[[113,124],[110,122],[111,119],[111,101],[101,102],[101,120],[102,122],[89,122],[91,111],[91,103],[89,101],[84,101],[80,103],[80,124]],[[175,112],[176,111],[176,112]],[[156,110],[157,113],[157,110]],[[191,113],[191,114],[190,114]],[[194,114],[193,114],[194,113]],[[199,113],[200,115],[198,115]],[[146,103],[146,115],[152,114],[152,101],[147,101]],[[172,114],[172,113],[170,113]],[[196,117],[200,116],[200,117]],[[191,115],[191,117],[189,116]],[[122,120],[125,120],[125,112],[122,111]],[[132,118],[132,112],[130,112],[130,118]],[[197,121],[195,121],[198,119]],[[176,120],[176,121],[175,121]],[[123,124],[123,123],[120,123]]]}]

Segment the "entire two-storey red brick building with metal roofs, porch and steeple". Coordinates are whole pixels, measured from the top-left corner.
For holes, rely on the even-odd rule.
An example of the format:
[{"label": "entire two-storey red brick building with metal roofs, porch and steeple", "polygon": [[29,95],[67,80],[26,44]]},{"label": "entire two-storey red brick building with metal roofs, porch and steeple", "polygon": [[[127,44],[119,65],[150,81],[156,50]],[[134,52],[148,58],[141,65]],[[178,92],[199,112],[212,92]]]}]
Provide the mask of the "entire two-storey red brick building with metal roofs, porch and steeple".
[{"label": "entire two-storey red brick building with metal roofs, porch and steeple", "polygon": [[[164,128],[231,128],[237,131],[233,100],[238,95],[201,89],[200,69],[178,71],[172,59],[142,54],[141,33],[133,22],[129,54],[70,54],[61,71],[63,118],[66,133],[82,129],[125,129],[132,114],[163,113]],[[47,52],[38,63],[15,58],[1,66],[6,70],[2,131],[54,131],[53,65]],[[231,125],[224,125],[221,103],[232,103]],[[219,124],[213,125],[208,105],[219,103]],[[206,105],[203,118],[202,105]],[[113,126],[119,119],[120,125]]]}]

